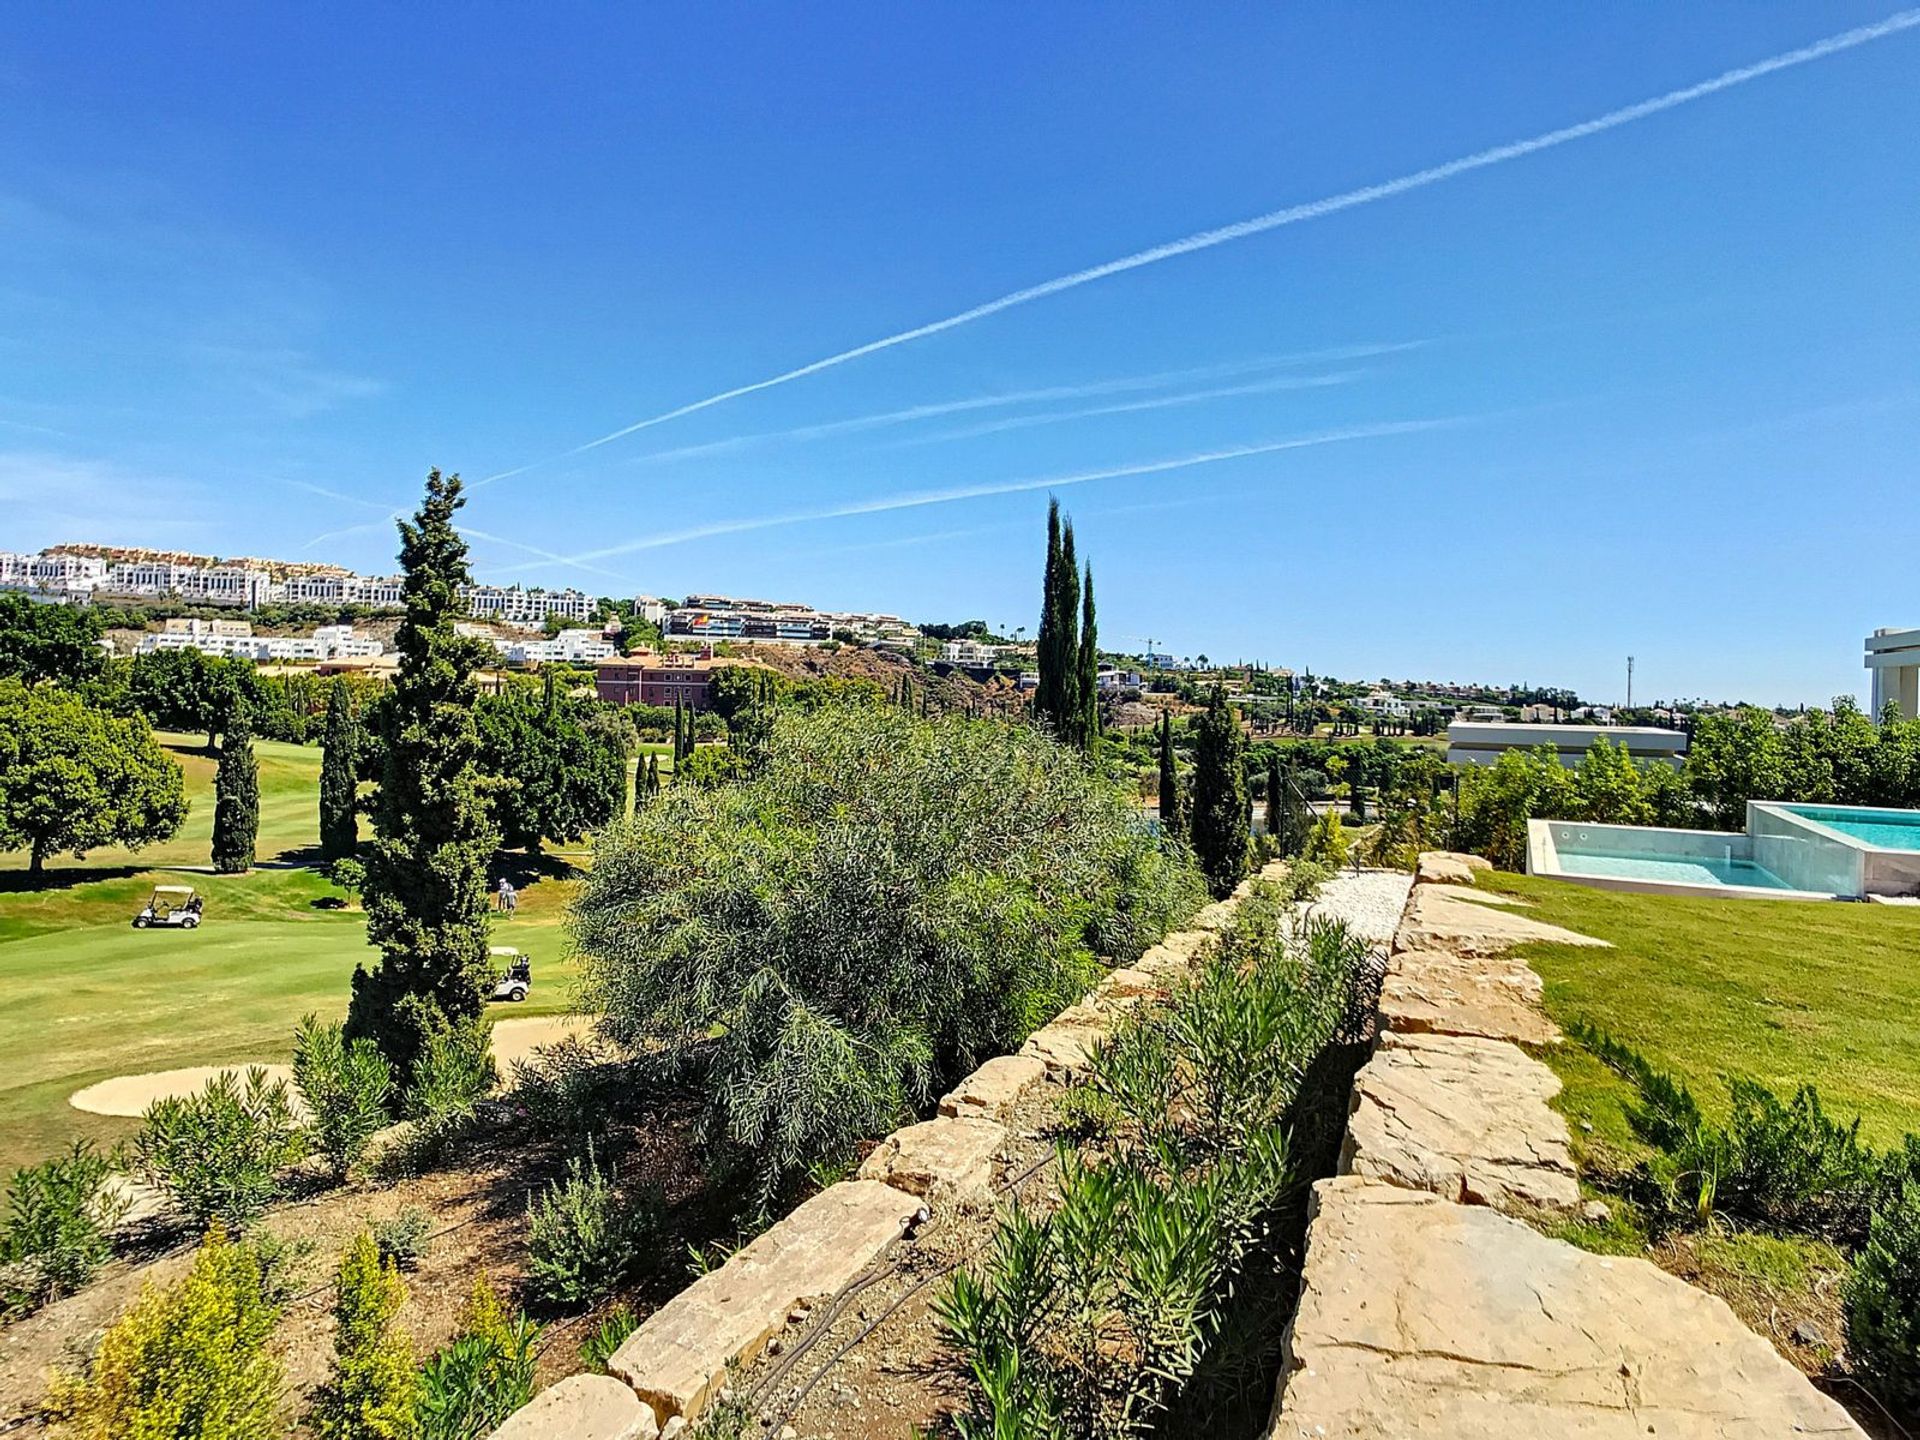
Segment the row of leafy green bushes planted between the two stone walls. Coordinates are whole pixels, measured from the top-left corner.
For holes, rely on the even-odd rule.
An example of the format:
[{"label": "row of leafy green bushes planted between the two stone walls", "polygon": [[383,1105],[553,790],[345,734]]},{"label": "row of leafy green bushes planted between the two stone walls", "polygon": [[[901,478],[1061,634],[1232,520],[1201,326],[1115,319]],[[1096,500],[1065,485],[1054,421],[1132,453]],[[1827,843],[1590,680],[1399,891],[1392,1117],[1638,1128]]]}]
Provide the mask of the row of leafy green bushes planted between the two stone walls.
[{"label": "row of leafy green bushes planted between the two stone walls", "polygon": [[1256,885],[1192,979],[1094,1052],[1083,1116],[1106,1158],[1064,1150],[1058,1206],[1012,1210],[941,1298],[979,1390],[968,1440],[1146,1434],[1208,1357],[1369,954],[1344,925],[1283,922]]}]

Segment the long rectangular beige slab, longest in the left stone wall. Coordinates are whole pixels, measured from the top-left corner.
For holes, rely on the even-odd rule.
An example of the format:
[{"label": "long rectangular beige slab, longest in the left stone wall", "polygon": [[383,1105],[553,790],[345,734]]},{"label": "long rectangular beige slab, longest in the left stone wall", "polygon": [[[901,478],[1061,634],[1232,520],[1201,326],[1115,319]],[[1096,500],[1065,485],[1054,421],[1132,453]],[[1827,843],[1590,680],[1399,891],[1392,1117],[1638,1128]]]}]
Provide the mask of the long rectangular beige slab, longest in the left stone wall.
[{"label": "long rectangular beige slab, longest in the left stone wall", "polygon": [[664,1423],[699,1417],[803,1300],[833,1294],[906,1233],[920,1202],[879,1181],[841,1181],[653,1311],[607,1369]]}]

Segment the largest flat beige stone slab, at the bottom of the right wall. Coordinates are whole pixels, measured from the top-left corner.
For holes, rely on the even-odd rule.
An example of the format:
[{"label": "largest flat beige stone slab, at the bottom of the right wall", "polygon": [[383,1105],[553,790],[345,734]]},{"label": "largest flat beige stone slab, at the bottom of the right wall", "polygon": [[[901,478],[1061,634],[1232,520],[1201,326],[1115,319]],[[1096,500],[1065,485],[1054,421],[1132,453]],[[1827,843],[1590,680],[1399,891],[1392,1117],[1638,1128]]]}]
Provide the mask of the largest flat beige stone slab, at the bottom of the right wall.
[{"label": "largest flat beige stone slab, at the bottom of the right wall", "polygon": [[1269,1440],[1862,1436],[1724,1302],[1645,1260],[1352,1177],[1313,1208]]}]

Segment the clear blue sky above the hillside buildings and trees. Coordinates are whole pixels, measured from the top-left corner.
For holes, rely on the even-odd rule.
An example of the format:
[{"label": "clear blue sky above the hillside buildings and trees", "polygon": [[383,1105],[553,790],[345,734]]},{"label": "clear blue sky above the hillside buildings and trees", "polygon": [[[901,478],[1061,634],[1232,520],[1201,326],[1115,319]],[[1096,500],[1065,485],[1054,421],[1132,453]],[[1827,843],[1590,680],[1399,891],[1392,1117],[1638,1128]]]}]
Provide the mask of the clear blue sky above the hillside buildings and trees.
[{"label": "clear blue sky above the hillside buildings and trees", "polygon": [[1818,703],[1920,624],[1920,27],[580,447],[1895,13],[13,6],[0,547],[388,570],[442,465],[490,578],[1031,628],[1054,482],[1114,645]]}]

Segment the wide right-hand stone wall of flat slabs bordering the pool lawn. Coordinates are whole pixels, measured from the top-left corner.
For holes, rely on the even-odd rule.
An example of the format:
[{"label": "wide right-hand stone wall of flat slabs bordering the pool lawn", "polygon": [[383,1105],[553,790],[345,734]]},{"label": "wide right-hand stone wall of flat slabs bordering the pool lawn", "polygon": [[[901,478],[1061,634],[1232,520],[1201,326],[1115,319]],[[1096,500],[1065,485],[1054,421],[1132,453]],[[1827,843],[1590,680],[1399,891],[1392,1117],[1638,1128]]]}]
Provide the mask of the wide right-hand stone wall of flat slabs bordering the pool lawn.
[{"label": "wide right-hand stone wall of flat slabs bordering the pool lawn", "polygon": [[1582,1206],[1526,941],[1603,945],[1421,856],[1354,1081],[1342,1175],[1313,1187],[1269,1440],[1860,1436],[1720,1300],[1519,1215]]}]

